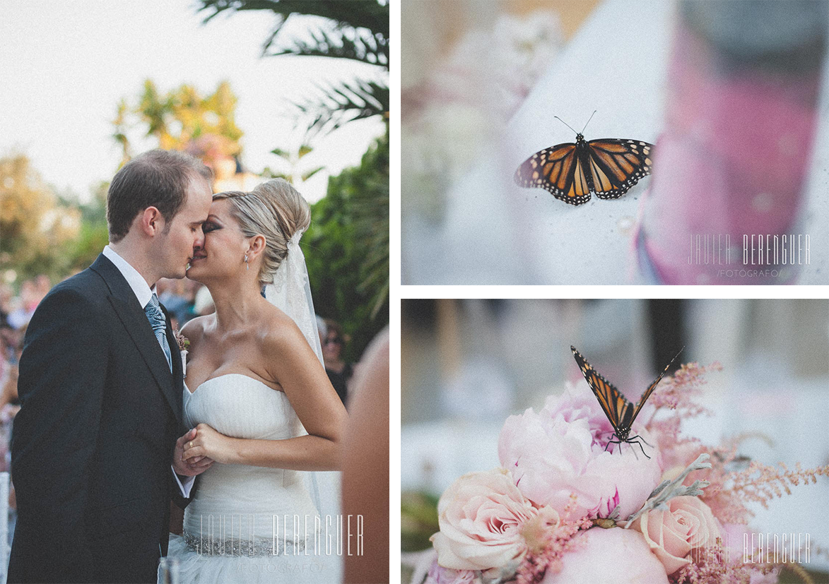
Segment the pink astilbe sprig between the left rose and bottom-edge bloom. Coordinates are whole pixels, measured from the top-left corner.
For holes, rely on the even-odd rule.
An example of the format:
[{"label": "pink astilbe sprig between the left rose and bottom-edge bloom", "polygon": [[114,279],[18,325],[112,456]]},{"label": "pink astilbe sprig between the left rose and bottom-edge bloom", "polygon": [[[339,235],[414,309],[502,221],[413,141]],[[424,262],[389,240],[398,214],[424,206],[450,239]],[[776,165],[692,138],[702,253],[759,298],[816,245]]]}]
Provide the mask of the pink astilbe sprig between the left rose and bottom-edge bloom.
[{"label": "pink astilbe sprig between the left rose and bottom-edge bloom", "polygon": [[548,570],[559,572],[561,558],[577,544],[572,541],[575,534],[593,527],[593,522],[586,516],[580,519],[570,518],[573,510],[579,506],[577,499],[576,495],[570,495],[570,503],[555,527],[524,533],[530,551],[518,567],[516,584],[538,584]]}]

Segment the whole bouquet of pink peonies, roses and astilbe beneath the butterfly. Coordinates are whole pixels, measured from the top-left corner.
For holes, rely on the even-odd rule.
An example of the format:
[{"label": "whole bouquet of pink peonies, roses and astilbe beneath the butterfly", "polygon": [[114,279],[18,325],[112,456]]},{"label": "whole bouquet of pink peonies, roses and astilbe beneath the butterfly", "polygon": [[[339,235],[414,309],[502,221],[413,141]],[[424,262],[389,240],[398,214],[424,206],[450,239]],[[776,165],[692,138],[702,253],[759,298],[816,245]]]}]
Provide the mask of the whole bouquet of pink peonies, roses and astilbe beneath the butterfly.
[{"label": "whole bouquet of pink peonies, roses and astilbe beneath the butterfly", "polygon": [[791,543],[778,553],[749,538],[749,504],[765,507],[829,466],[789,471],[739,456],[740,437],[720,446],[682,437],[681,420],[710,414],[699,400],[712,369],[721,367],[686,364],[663,380],[635,423],[641,451],[610,442],[584,382],[507,418],[502,467],[444,492],[434,551],[413,582],[759,584],[777,582],[783,566],[808,582]]}]

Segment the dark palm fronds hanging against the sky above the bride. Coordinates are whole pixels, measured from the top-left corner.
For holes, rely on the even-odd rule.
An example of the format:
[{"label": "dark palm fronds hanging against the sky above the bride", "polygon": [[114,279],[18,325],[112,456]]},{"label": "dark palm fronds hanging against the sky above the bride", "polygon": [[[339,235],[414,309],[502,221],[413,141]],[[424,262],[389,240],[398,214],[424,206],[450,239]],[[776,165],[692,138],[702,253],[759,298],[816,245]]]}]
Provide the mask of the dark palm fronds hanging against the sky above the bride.
[{"label": "dark palm fronds hanging against the sky above the bride", "polygon": [[[225,11],[264,10],[276,25],[263,56],[318,56],[371,65],[368,75],[319,85],[318,94],[296,104],[311,118],[309,130],[331,132],[355,119],[389,112],[389,4],[385,0],[199,0],[206,21]],[[318,17],[310,38],[287,37],[284,27],[297,15]]]}]

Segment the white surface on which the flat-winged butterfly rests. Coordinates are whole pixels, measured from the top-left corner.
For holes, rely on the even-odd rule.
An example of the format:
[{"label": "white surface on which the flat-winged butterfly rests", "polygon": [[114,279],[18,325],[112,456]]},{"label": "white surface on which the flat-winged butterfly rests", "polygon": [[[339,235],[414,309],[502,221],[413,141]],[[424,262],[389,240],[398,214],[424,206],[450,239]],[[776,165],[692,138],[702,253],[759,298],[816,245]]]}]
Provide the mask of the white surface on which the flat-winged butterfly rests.
[{"label": "white surface on which the flat-winged butterfly rests", "polygon": [[[533,152],[586,140],[629,138],[656,142],[662,128],[664,75],[673,30],[671,2],[604,2],[579,30],[553,67],[527,97],[508,128],[507,167]],[[526,253],[538,282],[621,284],[630,281],[633,233],[639,198],[650,178],[618,200],[593,196],[577,207],[541,189],[510,185],[507,198],[522,202]]]}]

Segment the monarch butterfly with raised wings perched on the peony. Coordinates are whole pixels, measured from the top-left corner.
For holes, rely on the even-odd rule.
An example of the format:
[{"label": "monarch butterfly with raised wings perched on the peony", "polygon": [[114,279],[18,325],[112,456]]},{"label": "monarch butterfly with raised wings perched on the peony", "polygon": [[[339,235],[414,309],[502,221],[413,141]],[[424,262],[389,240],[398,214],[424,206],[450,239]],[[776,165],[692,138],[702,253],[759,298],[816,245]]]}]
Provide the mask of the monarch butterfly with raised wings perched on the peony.
[{"label": "monarch butterfly with raised wings perched on the peony", "polygon": [[[667,373],[668,367],[670,367],[676,360],[676,357],[680,355],[682,349],[680,349],[679,353],[671,359],[671,363],[667,364],[665,369],[662,369],[662,373],[659,374],[656,381],[647,387],[645,393],[642,393],[642,397],[639,398],[639,401],[635,406],[633,403],[628,402],[628,398],[625,398],[618,389],[613,387],[613,385],[608,383],[604,377],[599,375],[599,372],[596,371],[596,369],[593,369],[593,366],[584,359],[581,353],[579,353],[573,345],[570,345],[570,350],[573,351],[575,362],[579,364],[581,374],[584,375],[584,379],[587,379],[587,384],[590,386],[590,389],[593,389],[593,393],[596,394],[596,398],[599,400],[599,405],[602,407],[604,415],[608,417],[610,425],[613,426],[613,437],[616,437],[616,440],[609,441],[607,446],[604,446],[604,450],[607,450],[608,446],[611,444],[621,445],[623,442],[628,442],[628,444],[638,444],[639,447],[642,448],[642,454],[647,456],[645,448],[642,444],[636,442],[637,439],[645,442],[644,438],[641,436],[630,437],[630,427],[633,425],[633,420],[635,420],[638,416],[639,410],[642,409],[642,405],[644,405],[647,398],[651,396],[651,393],[653,393],[653,390],[656,389],[657,384],[662,381],[662,376]],[[645,444],[647,444],[647,442],[645,442]],[[651,445],[647,444],[647,446]],[[647,456],[647,458],[650,458],[650,456]]]}]

